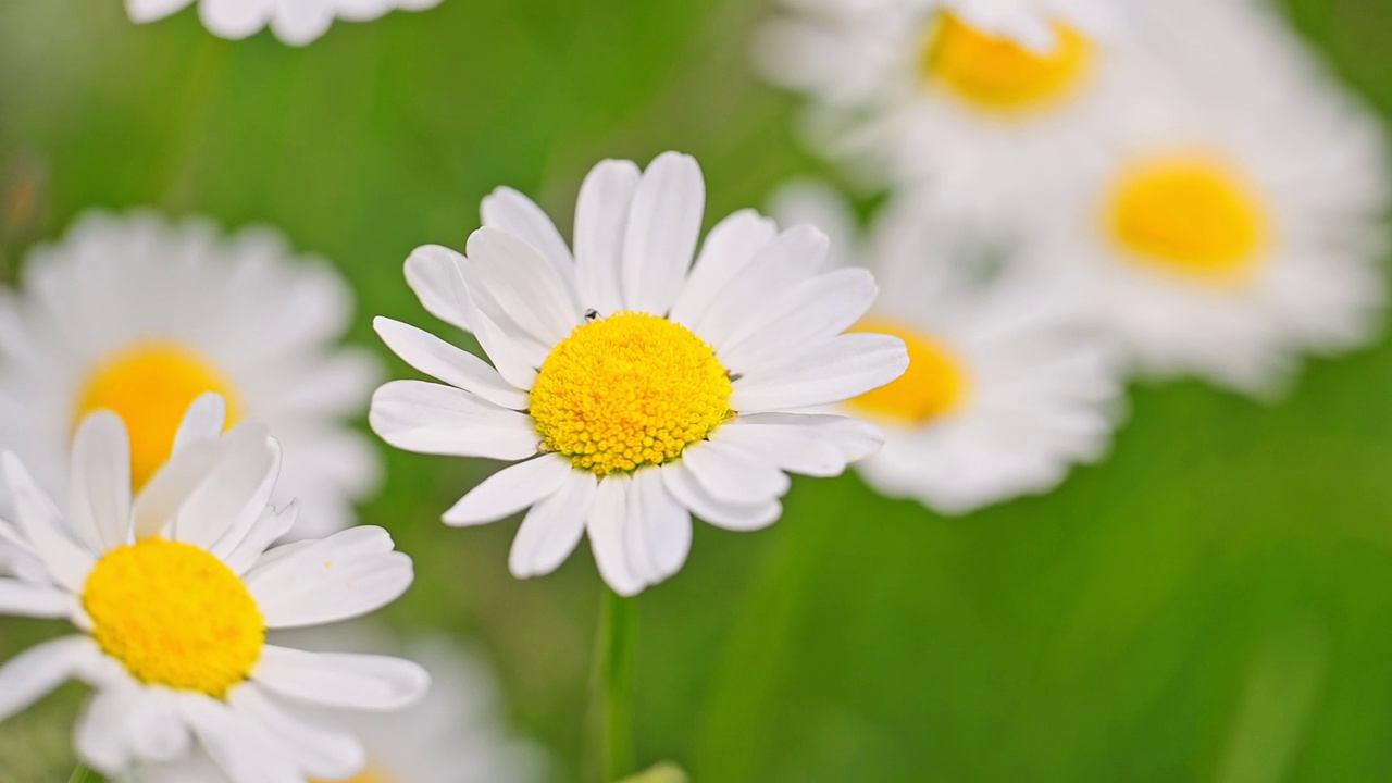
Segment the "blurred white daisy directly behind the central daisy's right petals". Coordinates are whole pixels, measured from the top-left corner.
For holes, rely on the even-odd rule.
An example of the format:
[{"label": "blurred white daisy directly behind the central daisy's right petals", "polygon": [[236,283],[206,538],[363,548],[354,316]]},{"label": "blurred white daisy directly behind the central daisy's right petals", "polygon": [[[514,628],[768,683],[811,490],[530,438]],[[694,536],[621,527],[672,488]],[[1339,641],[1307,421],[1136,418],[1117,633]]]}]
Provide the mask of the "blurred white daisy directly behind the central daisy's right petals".
[{"label": "blurred white daisy directly behind the central daisy's right petals", "polygon": [[1100,458],[1121,408],[1115,362],[1070,286],[1001,261],[924,196],[901,198],[863,242],[827,188],[791,185],[774,215],[821,215],[884,293],[857,329],[909,346],[909,371],[844,405],[884,429],[857,464],[871,486],[948,514],[1054,489]]}]

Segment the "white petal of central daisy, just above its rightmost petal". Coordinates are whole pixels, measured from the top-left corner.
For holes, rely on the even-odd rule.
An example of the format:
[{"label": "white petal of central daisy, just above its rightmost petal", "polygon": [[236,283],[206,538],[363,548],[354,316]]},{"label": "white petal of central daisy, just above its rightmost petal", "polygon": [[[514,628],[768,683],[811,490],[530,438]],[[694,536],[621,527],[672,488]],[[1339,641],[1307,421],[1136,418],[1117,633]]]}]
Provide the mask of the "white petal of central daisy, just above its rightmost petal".
[{"label": "white petal of central daisy, just above its rightmost petal", "polygon": [[720,359],[732,372],[756,371],[841,334],[870,309],[878,288],[864,269],[838,269],[777,295],[731,333]]}]

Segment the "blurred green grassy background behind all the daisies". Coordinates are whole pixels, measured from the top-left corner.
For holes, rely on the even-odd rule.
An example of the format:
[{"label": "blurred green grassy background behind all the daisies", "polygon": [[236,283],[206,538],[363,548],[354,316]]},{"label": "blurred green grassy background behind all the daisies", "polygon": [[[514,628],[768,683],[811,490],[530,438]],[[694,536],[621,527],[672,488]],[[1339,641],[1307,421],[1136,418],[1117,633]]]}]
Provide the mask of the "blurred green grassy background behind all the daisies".
[{"label": "blurred green grassy background behind all the daisies", "polygon": [[[1392,3],[1307,0],[1300,32],[1392,111]],[[0,0],[0,263],[92,206],[266,222],[369,316],[445,333],[401,277],[508,184],[568,230],[600,157],[697,156],[707,224],[820,164],[746,67],[763,3],[444,0],[306,49],[192,11]],[[395,362],[394,376],[409,371]],[[1392,777],[1392,348],[1310,362],[1264,405],[1139,387],[1112,456],[967,518],[796,482],[757,534],[699,527],[639,600],[638,750],[702,783]],[[600,582],[587,549],[507,574],[515,522],[438,514],[493,465],[391,453],[363,521],[416,557],[387,613],[497,666],[514,722],[580,775]],[[56,624],[4,621],[8,656]],[[0,727],[0,780],[71,766],[68,688]],[[49,769],[39,775],[38,769]]]}]

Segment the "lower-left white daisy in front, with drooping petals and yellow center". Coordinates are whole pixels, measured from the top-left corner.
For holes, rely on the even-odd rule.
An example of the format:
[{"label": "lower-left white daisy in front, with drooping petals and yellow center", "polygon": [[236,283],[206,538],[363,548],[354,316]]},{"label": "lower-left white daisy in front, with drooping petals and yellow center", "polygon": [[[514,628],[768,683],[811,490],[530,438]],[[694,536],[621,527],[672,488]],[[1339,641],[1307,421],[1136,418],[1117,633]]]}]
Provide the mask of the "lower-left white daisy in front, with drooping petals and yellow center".
[{"label": "lower-left white daisy in front, with drooping petals and yellow center", "polygon": [[0,612],[78,630],[0,669],[0,718],[78,679],[96,688],[78,755],[103,773],[196,747],[235,783],[356,775],[362,744],[308,711],[401,709],[429,676],[397,658],[271,645],[266,631],[372,612],[411,584],[411,559],[374,527],[267,549],[295,517],[267,504],[280,449],[256,424],[220,435],[223,414],[213,394],[191,405],[173,458],[134,500],[125,428],[92,414],[70,515],[14,453],[0,458],[14,503],[0,538],[28,561],[28,575],[0,578]]}]

